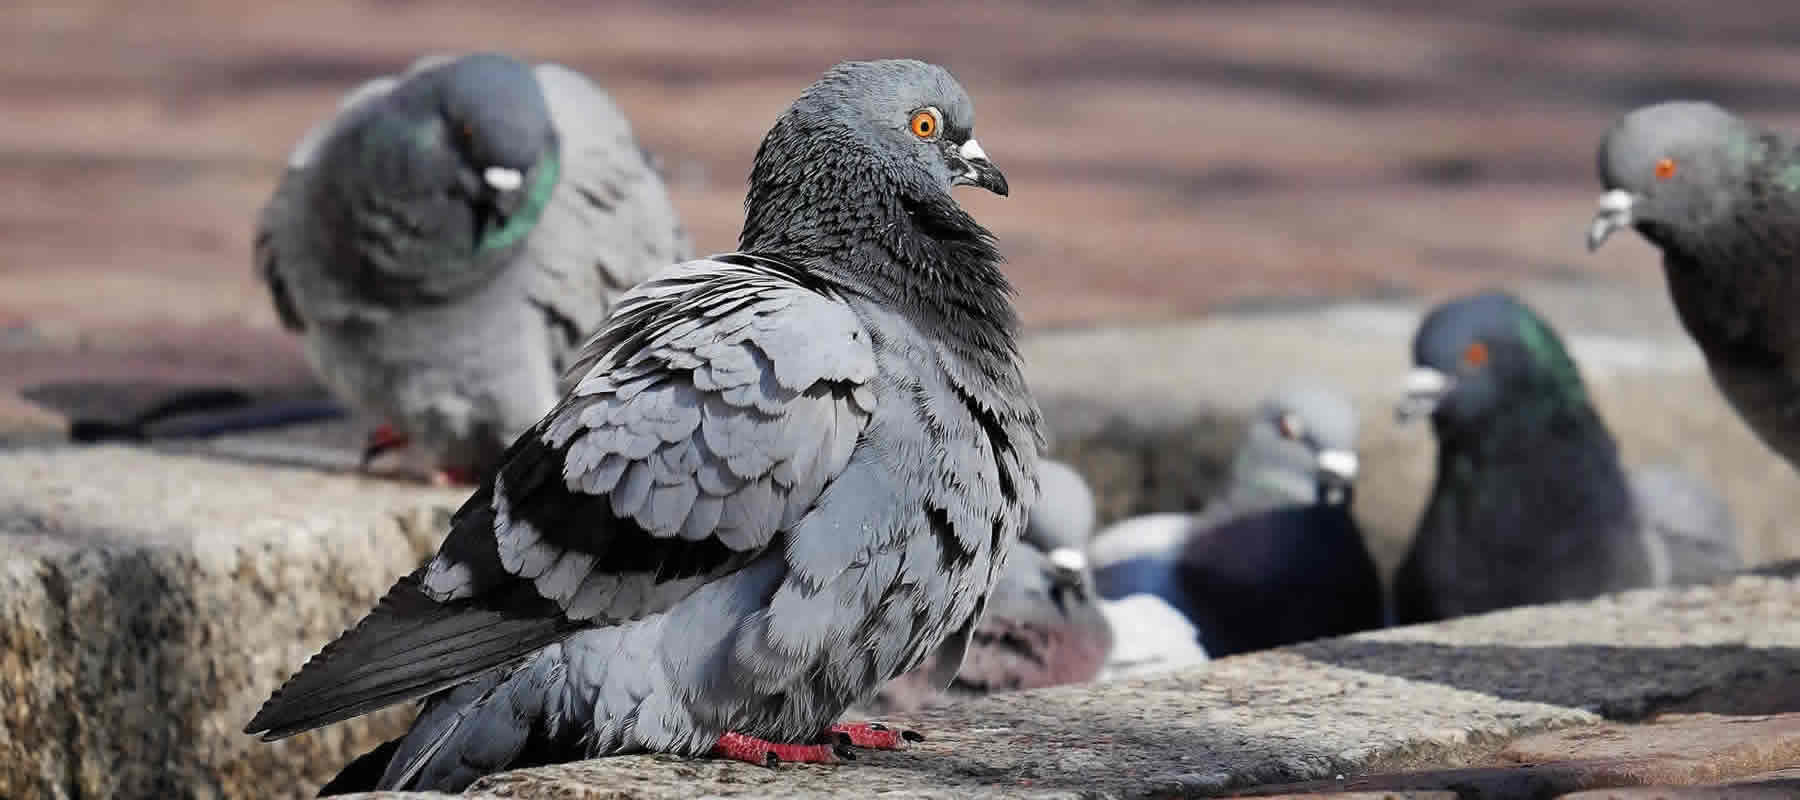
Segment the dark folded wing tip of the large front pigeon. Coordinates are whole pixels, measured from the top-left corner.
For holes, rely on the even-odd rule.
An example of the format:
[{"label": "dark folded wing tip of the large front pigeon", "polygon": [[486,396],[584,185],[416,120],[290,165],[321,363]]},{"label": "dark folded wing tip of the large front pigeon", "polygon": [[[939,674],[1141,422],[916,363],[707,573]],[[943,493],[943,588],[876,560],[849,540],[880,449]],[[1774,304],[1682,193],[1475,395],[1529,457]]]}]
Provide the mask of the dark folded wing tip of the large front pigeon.
[{"label": "dark folded wing tip of the large front pigeon", "polygon": [[243,732],[275,741],[423,697],[578,627],[545,609],[529,584],[500,593],[499,602],[439,604],[419,580],[421,571],[400,578],[356,627],[275,690]]}]

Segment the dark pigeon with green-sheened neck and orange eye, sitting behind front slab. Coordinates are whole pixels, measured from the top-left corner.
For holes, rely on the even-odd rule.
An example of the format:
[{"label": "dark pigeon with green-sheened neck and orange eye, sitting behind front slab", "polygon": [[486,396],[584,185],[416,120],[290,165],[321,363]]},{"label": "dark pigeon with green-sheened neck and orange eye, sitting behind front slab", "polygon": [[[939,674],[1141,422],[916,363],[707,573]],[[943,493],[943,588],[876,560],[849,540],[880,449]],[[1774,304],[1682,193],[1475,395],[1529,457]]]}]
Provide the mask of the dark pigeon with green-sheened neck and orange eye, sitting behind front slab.
[{"label": "dark pigeon with green-sheened neck and orange eye, sitting behind front slab", "polygon": [[1395,618],[1706,580],[1739,566],[1724,503],[1678,470],[1627,476],[1562,341],[1519,299],[1440,305],[1399,416],[1431,418],[1438,468],[1395,575]]}]

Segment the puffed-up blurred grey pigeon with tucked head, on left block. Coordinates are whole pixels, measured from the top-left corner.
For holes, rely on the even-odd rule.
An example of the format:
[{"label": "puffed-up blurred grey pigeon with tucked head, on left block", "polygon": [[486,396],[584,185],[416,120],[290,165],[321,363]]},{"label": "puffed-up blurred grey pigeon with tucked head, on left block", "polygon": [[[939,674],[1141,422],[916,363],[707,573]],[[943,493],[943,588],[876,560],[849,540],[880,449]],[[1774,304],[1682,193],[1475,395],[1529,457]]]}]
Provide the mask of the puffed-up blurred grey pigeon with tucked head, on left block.
[{"label": "puffed-up blurred grey pigeon with tucked head, on left block", "polygon": [[562,395],[614,299],[689,258],[662,178],[587,77],[432,56],[351,92],[256,223],[286,328],[367,458],[410,443],[472,483]]}]

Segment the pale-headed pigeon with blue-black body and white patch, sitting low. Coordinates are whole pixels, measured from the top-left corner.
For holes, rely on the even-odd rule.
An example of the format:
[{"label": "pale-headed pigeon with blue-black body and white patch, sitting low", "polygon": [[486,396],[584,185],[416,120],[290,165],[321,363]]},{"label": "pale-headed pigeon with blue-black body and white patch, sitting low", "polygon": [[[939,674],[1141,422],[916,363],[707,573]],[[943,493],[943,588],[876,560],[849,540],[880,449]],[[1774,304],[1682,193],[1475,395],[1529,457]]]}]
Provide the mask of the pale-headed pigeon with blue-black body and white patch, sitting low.
[{"label": "pale-headed pigeon with blue-black body and white patch, sitting low", "polygon": [[1217,501],[1100,535],[1102,596],[1161,598],[1210,658],[1381,627],[1381,577],[1350,515],[1355,436],[1339,393],[1282,386],[1251,420]]}]

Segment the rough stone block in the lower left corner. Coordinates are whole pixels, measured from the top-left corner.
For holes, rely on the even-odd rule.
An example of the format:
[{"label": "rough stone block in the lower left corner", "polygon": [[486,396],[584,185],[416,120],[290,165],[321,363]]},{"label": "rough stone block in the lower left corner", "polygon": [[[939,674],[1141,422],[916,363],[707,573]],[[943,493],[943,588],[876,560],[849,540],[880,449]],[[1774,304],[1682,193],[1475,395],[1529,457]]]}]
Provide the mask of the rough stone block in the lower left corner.
[{"label": "rough stone block in the lower left corner", "polygon": [[405,710],[245,721],[461,494],[131,449],[0,450],[0,796],[295,796]]}]

